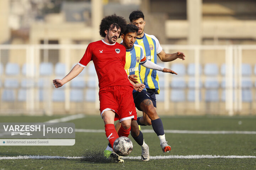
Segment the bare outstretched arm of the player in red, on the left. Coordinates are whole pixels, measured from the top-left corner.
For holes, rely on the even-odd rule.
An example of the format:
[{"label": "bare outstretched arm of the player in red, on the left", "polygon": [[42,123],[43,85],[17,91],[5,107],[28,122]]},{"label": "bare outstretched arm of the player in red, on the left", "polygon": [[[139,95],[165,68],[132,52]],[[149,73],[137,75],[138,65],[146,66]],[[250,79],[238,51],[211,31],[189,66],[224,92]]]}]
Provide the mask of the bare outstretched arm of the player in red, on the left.
[{"label": "bare outstretched arm of the player in red, on the left", "polygon": [[84,67],[80,66],[79,64],[76,64],[73,69],[67,74],[62,80],[60,79],[54,79],[53,84],[56,88],[63,86],[65,83],[69,82],[76,76],[78,76],[79,73],[82,72]]}]

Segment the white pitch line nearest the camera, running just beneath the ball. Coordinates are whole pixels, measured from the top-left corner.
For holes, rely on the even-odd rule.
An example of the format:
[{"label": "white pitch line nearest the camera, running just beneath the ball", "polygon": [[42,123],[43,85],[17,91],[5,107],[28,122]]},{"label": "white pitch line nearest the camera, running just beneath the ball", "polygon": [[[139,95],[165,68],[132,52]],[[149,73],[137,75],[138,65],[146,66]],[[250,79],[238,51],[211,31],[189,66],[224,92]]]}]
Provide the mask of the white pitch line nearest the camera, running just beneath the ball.
[{"label": "white pitch line nearest the camera, running just beneath the ball", "polygon": [[[0,157],[0,160],[8,159],[81,159],[83,157],[60,157],[60,156],[41,156],[41,155],[25,155],[17,157]],[[124,159],[141,159],[138,157],[123,157]],[[150,159],[215,159],[215,158],[226,158],[226,159],[245,159],[245,158],[254,158],[256,156],[240,156],[240,155],[168,155],[168,156],[153,156]]]}]

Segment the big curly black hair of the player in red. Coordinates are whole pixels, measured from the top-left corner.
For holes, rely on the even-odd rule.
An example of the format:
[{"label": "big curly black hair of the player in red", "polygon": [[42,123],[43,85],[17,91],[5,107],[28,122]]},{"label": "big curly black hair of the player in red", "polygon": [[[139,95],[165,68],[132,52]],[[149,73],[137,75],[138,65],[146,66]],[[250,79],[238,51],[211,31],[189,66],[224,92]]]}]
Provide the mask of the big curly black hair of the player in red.
[{"label": "big curly black hair of the player in red", "polygon": [[[105,30],[114,29],[114,27],[116,27],[117,29],[121,29],[121,35],[124,31],[126,24],[126,20],[121,16],[117,16],[116,14],[106,16],[101,20],[100,35],[104,38],[106,36]],[[120,38],[120,36],[118,38]]]}]

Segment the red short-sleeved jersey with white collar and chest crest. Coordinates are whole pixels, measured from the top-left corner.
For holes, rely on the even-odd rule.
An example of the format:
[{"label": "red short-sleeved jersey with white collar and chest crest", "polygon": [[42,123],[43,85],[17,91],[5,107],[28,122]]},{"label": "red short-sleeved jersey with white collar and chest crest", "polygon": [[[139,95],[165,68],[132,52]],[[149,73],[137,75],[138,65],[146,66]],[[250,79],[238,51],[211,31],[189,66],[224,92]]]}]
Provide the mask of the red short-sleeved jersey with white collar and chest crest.
[{"label": "red short-sleeved jersey with white collar and chest crest", "polygon": [[123,45],[117,42],[108,44],[103,40],[91,42],[78,64],[85,67],[90,61],[94,62],[100,89],[109,86],[133,87],[124,70],[126,49]]}]

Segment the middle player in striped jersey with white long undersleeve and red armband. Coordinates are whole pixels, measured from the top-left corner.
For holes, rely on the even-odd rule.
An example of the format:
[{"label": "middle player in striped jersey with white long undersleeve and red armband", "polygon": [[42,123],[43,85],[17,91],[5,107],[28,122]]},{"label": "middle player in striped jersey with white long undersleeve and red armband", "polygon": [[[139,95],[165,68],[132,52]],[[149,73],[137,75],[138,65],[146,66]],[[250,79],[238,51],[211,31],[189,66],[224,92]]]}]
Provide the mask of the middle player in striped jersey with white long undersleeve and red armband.
[{"label": "middle player in striped jersey with white long undersleeve and red armband", "polygon": [[[147,58],[144,55],[144,50],[142,46],[134,44],[137,38],[137,29],[138,27],[134,26],[133,24],[128,24],[126,26],[124,33],[121,35],[121,38],[123,39],[122,45],[126,48],[126,64],[124,66],[124,69],[126,70],[127,75],[137,75],[138,81],[142,82],[140,78],[142,66],[149,69],[159,70],[162,72],[177,74],[171,69],[163,68],[147,60]],[[153,102],[151,101],[151,98],[146,92],[146,89],[142,90],[142,92],[139,93],[133,91],[133,99],[135,106],[139,111],[145,112],[152,120],[159,119],[158,114],[156,113],[156,110],[154,108]],[[133,130],[135,130],[135,128]],[[131,130],[131,134],[133,130]],[[161,146],[164,152],[167,152],[171,149],[171,147],[168,145]]]}]

